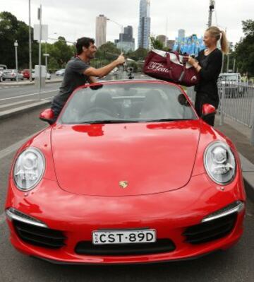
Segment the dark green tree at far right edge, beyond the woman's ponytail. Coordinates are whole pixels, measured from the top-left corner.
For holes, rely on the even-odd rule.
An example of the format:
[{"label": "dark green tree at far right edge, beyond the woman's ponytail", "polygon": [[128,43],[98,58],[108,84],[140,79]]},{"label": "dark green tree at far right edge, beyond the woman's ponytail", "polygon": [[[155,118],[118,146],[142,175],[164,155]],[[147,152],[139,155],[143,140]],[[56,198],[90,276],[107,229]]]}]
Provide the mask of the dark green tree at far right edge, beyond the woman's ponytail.
[{"label": "dark green tree at far right edge, beyond the woman's ponytail", "polygon": [[242,21],[243,33],[246,37],[236,44],[236,61],[238,70],[254,76],[254,20]]}]

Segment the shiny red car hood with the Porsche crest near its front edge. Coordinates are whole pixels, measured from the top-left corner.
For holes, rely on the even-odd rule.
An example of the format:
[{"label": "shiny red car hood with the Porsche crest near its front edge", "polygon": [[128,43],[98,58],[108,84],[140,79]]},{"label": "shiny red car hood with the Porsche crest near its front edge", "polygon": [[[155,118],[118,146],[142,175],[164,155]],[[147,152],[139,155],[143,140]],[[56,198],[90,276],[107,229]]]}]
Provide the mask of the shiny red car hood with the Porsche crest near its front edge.
[{"label": "shiny red car hood with the Porsche crest near its front edge", "polygon": [[131,196],[184,187],[191,178],[200,122],[61,125],[52,153],[61,189]]}]

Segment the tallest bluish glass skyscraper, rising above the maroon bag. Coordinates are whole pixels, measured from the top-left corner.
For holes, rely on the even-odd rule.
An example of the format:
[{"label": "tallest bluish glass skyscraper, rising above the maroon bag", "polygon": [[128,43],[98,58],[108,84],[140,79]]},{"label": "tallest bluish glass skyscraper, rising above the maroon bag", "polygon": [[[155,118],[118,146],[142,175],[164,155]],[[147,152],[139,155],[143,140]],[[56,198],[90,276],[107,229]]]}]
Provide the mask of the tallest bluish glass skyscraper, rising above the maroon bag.
[{"label": "tallest bluish glass skyscraper, rising above the maroon bag", "polygon": [[140,0],[140,17],[138,25],[138,47],[150,47],[150,0]]}]

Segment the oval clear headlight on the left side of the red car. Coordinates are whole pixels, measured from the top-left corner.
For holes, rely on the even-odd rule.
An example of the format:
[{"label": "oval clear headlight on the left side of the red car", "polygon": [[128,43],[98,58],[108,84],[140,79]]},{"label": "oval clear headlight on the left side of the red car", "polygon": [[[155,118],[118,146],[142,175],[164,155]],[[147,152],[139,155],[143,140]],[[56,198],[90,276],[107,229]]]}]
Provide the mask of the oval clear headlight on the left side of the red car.
[{"label": "oval clear headlight on the left side of the red car", "polygon": [[27,192],[33,189],[42,179],[45,170],[45,159],[37,148],[26,148],[20,153],[13,169],[16,187]]}]

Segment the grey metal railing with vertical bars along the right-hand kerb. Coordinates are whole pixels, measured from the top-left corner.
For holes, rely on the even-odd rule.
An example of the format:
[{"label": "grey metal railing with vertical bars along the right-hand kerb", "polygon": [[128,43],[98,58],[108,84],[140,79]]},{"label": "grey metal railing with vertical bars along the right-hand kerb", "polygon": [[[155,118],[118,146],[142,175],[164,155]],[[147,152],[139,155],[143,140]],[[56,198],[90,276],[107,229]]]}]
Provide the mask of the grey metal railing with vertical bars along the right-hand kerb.
[{"label": "grey metal railing with vertical bars along the right-hand kerb", "polygon": [[[188,96],[195,101],[194,88],[188,88]],[[219,81],[219,125],[224,123],[224,117],[243,124],[251,129],[250,143],[254,146],[254,85],[252,83],[235,81]]]}]

